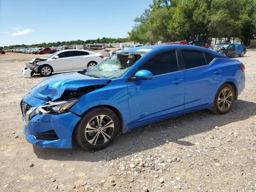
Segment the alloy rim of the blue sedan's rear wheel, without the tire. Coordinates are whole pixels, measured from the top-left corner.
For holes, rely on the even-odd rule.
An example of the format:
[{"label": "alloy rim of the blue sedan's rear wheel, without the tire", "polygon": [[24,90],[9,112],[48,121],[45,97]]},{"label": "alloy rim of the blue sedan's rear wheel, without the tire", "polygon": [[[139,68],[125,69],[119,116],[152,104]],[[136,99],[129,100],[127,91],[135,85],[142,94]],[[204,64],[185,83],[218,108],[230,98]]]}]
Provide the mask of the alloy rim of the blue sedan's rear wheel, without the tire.
[{"label": "alloy rim of the blue sedan's rear wheel, without the tire", "polygon": [[218,97],[218,107],[220,110],[224,111],[230,108],[232,104],[232,91],[230,89],[224,89],[220,92]]}]

